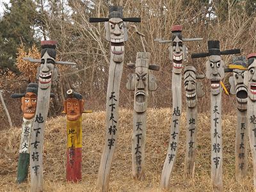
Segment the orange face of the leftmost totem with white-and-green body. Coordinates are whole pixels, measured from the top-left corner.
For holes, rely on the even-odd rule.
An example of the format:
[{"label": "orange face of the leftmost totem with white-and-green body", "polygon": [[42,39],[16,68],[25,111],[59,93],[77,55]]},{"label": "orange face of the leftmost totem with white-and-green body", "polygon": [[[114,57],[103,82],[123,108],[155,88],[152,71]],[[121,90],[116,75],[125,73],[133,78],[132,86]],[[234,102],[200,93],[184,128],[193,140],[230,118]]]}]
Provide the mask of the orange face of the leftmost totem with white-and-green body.
[{"label": "orange face of the leftmost totem with white-and-green body", "polygon": [[36,102],[37,96],[32,92],[26,93],[25,97],[21,98],[21,110],[24,118],[31,119],[35,116]]}]

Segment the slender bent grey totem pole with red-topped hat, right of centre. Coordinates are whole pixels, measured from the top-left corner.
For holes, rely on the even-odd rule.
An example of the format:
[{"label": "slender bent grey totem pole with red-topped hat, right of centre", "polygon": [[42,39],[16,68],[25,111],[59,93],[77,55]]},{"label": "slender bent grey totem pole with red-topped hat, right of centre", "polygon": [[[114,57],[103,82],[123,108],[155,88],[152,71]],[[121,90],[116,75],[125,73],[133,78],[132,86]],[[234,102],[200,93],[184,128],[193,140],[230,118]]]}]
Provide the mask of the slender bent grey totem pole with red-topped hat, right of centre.
[{"label": "slender bent grey totem pole with red-topped hat, right of centre", "polygon": [[164,161],[164,166],[161,174],[161,188],[169,187],[170,175],[172,174],[173,165],[177,156],[177,148],[179,143],[179,127],[182,108],[182,60],[186,61],[188,49],[183,42],[202,40],[202,38],[182,38],[182,26],[172,26],[172,40],[156,40],[159,43],[170,43],[169,58],[173,62],[172,69],[172,125],[170,132],[170,143],[168,152]]}]

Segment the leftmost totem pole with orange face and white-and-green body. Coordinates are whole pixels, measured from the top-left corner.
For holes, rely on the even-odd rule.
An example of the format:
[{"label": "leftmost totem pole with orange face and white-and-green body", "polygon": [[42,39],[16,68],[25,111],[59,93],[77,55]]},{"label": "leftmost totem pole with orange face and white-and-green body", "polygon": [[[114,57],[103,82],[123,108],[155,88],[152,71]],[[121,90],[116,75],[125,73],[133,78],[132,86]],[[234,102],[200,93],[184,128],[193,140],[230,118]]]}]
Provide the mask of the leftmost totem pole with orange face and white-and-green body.
[{"label": "leftmost totem pole with orange face and white-and-green body", "polygon": [[26,93],[14,93],[11,95],[15,99],[21,98],[21,110],[23,112],[16,180],[19,184],[28,178],[30,132],[36,113],[37,90],[38,84],[29,83]]}]

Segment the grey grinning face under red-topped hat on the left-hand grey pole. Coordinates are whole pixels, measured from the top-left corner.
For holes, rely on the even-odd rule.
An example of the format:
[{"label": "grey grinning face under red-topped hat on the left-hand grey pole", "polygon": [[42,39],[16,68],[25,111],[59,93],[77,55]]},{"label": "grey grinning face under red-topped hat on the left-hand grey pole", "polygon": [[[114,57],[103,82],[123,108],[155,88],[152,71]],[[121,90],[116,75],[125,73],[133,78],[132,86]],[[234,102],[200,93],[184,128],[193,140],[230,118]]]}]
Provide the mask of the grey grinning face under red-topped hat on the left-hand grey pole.
[{"label": "grey grinning face under red-topped hat on the left-hand grey pole", "polygon": [[58,69],[54,65],[55,59],[49,56],[45,51],[41,58],[41,65],[37,68],[36,78],[39,80],[38,87],[45,90],[51,87],[52,80],[55,81],[58,76]]}]

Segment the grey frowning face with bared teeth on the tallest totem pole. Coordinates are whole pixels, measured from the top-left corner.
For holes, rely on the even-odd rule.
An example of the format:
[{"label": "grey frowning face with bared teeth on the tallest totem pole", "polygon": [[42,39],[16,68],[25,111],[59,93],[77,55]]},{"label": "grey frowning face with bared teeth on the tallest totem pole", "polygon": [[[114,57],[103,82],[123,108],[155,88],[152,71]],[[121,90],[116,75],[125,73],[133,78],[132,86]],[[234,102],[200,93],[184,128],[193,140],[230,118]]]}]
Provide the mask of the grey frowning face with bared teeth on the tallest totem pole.
[{"label": "grey frowning face with bared teeth on the tallest totem pole", "polygon": [[113,53],[113,61],[124,61],[124,42],[127,40],[125,22],[118,17],[113,17],[106,22],[106,40],[111,43],[110,51]]}]

